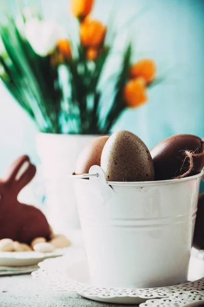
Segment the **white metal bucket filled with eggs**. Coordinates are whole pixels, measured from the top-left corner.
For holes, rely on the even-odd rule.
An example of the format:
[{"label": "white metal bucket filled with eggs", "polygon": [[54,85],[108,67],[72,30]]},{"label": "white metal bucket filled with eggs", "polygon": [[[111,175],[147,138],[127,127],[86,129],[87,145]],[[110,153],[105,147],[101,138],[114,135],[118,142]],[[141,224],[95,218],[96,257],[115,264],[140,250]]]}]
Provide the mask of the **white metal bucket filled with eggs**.
[{"label": "white metal bucket filled with eggs", "polygon": [[154,288],[187,280],[199,184],[195,176],[106,182],[104,171],[75,180],[92,284]]}]

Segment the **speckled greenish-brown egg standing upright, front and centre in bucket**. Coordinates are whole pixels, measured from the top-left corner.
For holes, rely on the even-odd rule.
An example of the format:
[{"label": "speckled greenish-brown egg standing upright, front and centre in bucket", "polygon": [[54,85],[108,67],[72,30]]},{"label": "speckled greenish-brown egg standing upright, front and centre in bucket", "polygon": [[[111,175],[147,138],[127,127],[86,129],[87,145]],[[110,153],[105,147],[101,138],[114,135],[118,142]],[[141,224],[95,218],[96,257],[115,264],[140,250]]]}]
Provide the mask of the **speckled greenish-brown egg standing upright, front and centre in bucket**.
[{"label": "speckled greenish-brown egg standing upright, front and centre in bucket", "polygon": [[146,145],[130,131],[118,131],[106,142],[101,167],[107,181],[152,181],[154,164]]}]

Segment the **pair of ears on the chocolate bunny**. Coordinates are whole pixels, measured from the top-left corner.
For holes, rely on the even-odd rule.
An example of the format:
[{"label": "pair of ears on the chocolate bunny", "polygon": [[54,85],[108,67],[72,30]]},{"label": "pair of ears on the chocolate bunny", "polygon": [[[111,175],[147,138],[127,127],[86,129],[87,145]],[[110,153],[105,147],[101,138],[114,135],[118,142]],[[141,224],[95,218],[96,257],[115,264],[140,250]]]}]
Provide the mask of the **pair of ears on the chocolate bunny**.
[{"label": "pair of ears on the chocolate bunny", "polygon": [[7,170],[4,182],[20,191],[33,179],[35,173],[36,167],[31,164],[29,157],[21,156]]}]

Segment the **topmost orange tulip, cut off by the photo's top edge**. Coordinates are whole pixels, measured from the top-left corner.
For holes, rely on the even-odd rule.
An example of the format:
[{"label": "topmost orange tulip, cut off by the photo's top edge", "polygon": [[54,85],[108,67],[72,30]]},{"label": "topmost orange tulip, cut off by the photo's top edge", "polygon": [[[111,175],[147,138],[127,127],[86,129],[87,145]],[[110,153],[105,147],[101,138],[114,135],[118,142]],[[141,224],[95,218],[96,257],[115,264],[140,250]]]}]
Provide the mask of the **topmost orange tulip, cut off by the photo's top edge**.
[{"label": "topmost orange tulip, cut off by the photo's top edge", "polygon": [[75,17],[85,18],[92,10],[94,0],[72,0],[71,10]]}]

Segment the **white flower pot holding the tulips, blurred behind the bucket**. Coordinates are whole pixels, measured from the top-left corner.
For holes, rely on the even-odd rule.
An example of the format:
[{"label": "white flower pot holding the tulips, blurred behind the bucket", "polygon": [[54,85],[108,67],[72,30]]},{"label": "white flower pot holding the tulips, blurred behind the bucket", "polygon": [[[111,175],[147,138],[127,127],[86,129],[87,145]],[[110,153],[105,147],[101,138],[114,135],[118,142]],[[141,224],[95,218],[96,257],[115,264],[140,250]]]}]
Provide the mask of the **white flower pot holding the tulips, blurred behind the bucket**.
[{"label": "white flower pot holding the tulips, blurred behind the bucket", "polygon": [[45,182],[46,216],[56,233],[69,235],[70,231],[80,229],[73,181],[68,175],[74,172],[81,150],[94,138],[93,135],[37,135],[37,152]]}]

